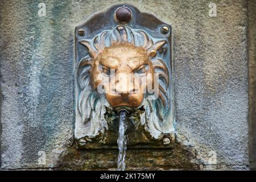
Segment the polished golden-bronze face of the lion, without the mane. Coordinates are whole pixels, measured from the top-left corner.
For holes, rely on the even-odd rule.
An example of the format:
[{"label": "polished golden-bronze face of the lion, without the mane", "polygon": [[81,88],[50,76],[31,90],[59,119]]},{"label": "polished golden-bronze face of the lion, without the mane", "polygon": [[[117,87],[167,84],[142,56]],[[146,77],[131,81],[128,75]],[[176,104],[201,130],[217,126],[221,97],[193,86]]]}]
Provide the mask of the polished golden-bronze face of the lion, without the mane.
[{"label": "polished golden-bronze face of the lion, without the mane", "polygon": [[101,84],[112,107],[139,107],[147,83],[154,85],[153,75],[154,68],[146,50],[129,43],[105,48],[94,61],[91,72],[94,89]]}]

